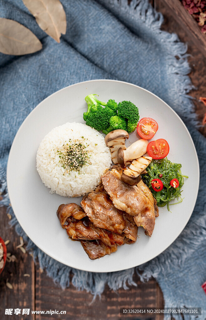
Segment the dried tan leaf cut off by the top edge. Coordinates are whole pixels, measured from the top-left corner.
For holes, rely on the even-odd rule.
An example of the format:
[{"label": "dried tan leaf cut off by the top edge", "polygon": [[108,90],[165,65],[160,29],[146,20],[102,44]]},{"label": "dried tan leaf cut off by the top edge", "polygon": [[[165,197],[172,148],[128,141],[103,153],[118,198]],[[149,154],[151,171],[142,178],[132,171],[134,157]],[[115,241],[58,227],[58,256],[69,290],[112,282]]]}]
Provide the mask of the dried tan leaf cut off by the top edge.
[{"label": "dried tan leaf cut off by the top edge", "polygon": [[59,0],[22,0],[39,27],[58,43],[66,33],[66,14]]}]

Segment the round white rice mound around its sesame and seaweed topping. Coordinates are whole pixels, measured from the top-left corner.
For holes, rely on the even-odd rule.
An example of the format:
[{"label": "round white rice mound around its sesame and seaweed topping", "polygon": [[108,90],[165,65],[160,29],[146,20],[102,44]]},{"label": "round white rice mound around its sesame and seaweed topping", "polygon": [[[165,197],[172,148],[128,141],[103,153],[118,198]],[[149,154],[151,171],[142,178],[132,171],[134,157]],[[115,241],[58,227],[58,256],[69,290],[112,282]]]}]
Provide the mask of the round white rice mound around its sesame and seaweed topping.
[{"label": "round white rice mound around its sesame and seaweed topping", "polygon": [[[84,137],[84,138],[82,138]],[[71,139],[71,140],[70,140]],[[87,140],[88,139],[88,140]],[[77,142],[86,145],[88,163],[78,171],[62,167],[57,150]],[[83,196],[100,183],[100,177],[110,168],[111,155],[101,133],[86,124],[66,123],[50,131],[37,151],[37,171],[50,193],[61,196]]]}]

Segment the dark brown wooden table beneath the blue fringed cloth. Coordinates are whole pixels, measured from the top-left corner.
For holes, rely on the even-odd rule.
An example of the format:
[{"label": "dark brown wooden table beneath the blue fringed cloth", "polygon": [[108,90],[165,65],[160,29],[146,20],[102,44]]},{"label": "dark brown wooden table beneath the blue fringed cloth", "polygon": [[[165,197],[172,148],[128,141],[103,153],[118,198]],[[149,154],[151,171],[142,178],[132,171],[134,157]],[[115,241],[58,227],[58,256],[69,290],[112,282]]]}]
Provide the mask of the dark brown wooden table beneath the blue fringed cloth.
[{"label": "dark brown wooden table beneath the blue fringed cloth", "polygon": [[[199,101],[200,96],[206,96],[206,47],[204,38],[201,38],[191,16],[184,11],[179,0],[153,0],[152,5],[163,13],[165,17],[163,30],[175,32],[179,38],[188,44],[188,53],[191,54],[189,62],[192,68],[190,77],[196,90],[190,92],[194,97],[195,112],[198,120],[202,122],[206,107]],[[175,8],[175,9],[173,9]],[[194,32],[195,30],[195,32]],[[205,39],[206,39],[206,35]],[[205,50],[205,51],[204,51]],[[200,127],[199,131],[206,136],[206,126]],[[0,208],[0,235],[4,240],[9,239],[8,252],[14,254],[17,261],[6,263],[0,279],[0,319],[76,319],[76,320],[116,320],[119,316],[120,307],[164,307],[161,289],[154,279],[147,283],[140,282],[134,277],[137,286],[131,286],[128,290],[119,289],[117,292],[110,291],[108,287],[102,294],[101,300],[97,297],[90,304],[93,296],[86,291],[78,291],[72,285],[65,291],[55,285],[45,272],[40,270],[38,263],[35,265],[28,253],[16,249],[20,243],[14,228],[9,228],[6,208]],[[29,274],[29,276],[24,276]],[[9,289],[5,283],[8,281],[13,285]],[[64,316],[29,315],[10,316],[5,314],[5,308],[30,308],[31,310],[59,310],[66,311]],[[31,312],[31,311],[30,311]],[[144,319],[158,320],[163,316],[144,316]],[[137,319],[137,317],[124,317]],[[141,317],[138,317],[141,319]]]}]

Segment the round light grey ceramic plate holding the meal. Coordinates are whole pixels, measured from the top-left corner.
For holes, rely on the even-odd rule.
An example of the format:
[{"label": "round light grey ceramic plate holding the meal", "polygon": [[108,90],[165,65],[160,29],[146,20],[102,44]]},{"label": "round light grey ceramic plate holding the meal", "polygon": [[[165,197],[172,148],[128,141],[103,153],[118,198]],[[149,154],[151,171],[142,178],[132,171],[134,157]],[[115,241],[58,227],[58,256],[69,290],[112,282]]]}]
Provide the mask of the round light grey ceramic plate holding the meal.
[{"label": "round light grey ceramic plate holding the meal", "polygon": [[[80,242],[71,241],[56,216],[62,203],[76,202],[50,194],[36,170],[36,154],[44,136],[66,122],[80,122],[87,110],[84,98],[91,93],[101,101],[131,100],[140,118],[151,117],[159,124],[155,140],[164,138],[170,151],[168,158],[182,164],[188,175],[183,186],[184,200],[180,204],[159,208],[152,237],[139,228],[135,244],[125,244],[111,255],[90,260]],[[137,140],[130,134],[127,144]],[[92,80],[71,85],[42,101],[26,118],[13,141],[7,166],[7,185],[15,215],[29,238],[46,254],[65,265],[93,272],[118,271],[138,266],[163,252],[181,233],[195,205],[199,186],[199,164],[191,136],[182,120],[160,98],[134,84],[114,80]],[[193,186],[191,188],[191,186]]]}]

